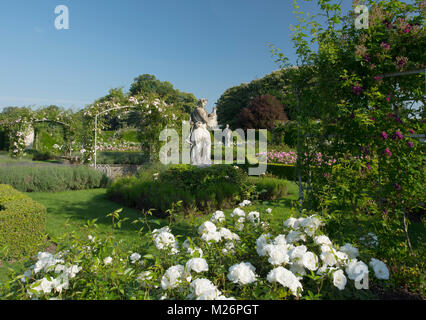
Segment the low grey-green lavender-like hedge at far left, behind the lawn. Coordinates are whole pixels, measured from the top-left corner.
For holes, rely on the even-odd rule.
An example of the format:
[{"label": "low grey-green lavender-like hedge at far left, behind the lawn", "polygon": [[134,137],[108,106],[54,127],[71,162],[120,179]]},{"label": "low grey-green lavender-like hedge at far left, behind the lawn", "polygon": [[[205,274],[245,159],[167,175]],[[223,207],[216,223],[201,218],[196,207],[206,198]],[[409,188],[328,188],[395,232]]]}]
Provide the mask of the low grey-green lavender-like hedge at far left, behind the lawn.
[{"label": "low grey-green lavender-like hedge at far left, behind the lawn", "polygon": [[5,166],[0,167],[0,183],[22,192],[58,192],[105,187],[108,178],[85,166]]}]

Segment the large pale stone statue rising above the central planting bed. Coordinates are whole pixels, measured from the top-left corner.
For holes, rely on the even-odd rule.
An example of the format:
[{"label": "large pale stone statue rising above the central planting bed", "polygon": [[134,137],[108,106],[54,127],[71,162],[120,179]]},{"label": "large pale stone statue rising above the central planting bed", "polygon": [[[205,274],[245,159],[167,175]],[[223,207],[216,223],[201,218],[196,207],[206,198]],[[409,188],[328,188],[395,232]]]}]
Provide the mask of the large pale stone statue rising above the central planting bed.
[{"label": "large pale stone statue rising above the central planting bed", "polygon": [[205,109],[207,99],[200,99],[191,113],[191,130],[187,141],[191,144],[191,163],[197,166],[210,165],[211,139],[209,130],[217,127],[216,108],[211,114]]}]

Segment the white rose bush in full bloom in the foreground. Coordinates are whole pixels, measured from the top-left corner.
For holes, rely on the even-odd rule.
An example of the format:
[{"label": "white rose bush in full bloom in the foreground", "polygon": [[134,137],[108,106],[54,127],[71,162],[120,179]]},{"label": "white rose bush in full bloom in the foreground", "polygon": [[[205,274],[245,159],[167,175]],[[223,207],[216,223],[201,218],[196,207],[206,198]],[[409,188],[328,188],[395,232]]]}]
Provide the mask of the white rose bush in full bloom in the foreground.
[{"label": "white rose bush in full bloom in the foreground", "polygon": [[0,285],[0,298],[358,299],[368,294],[363,282],[389,279],[379,259],[333,243],[319,215],[304,210],[278,225],[257,210],[216,211],[191,237],[173,225],[150,230],[141,237],[151,249],[139,252],[119,250],[113,236],[99,240],[92,223],[87,238],[72,233],[58,253],[40,252]]}]

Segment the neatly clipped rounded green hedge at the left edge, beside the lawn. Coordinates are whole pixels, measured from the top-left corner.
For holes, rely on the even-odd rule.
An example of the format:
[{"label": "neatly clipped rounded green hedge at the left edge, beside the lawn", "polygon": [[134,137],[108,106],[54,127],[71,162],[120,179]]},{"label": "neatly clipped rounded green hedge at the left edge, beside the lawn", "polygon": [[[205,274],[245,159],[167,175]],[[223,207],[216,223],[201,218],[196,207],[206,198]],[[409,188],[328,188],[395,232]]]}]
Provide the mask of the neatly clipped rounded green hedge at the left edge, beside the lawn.
[{"label": "neatly clipped rounded green hedge at the left edge, beside the lawn", "polygon": [[0,184],[0,259],[20,259],[45,244],[46,208]]}]

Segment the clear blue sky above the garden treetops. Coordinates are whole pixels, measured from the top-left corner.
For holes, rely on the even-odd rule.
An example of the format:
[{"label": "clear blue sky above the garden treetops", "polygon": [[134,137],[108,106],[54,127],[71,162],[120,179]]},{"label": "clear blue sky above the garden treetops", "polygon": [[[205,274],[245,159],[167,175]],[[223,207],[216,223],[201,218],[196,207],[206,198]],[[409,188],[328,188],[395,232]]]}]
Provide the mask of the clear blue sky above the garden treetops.
[{"label": "clear blue sky above the garden treetops", "polygon": [[[69,30],[55,29],[57,5]],[[295,61],[290,24],[290,0],[2,0],[0,110],[80,109],[144,73],[211,109],[227,88],[278,69],[267,43]]]}]

